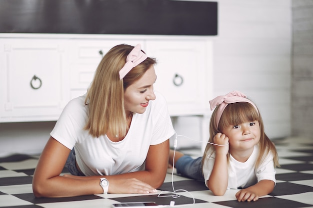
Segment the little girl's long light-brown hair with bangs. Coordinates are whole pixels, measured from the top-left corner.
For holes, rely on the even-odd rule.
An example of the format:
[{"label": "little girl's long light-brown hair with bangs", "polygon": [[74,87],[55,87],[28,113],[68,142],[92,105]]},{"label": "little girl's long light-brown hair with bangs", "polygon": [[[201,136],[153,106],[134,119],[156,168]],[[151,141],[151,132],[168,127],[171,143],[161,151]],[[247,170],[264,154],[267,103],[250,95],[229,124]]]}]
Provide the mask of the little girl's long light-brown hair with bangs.
[{"label": "little girl's long light-brown hair with bangs", "polygon": [[[266,155],[268,155],[269,153],[273,155],[274,167],[279,167],[276,148],[264,132],[264,125],[263,125],[261,115],[258,113],[259,111],[256,110],[248,102],[230,103],[225,107],[223,113],[221,114],[221,117],[217,126],[215,123],[215,116],[216,116],[216,112],[219,106],[220,105],[216,106],[216,108],[214,109],[211,115],[210,124],[209,124],[209,140],[208,141],[210,143],[213,143],[214,136],[218,132],[222,133],[222,129],[224,129],[225,127],[229,125],[234,126],[234,125],[239,125],[244,122],[258,121],[259,128],[260,128],[260,139],[258,142],[259,154],[255,163],[255,168],[259,167],[259,165],[265,159]],[[213,146],[214,145],[207,143],[204,154],[203,154],[203,158],[202,158],[202,167],[203,167],[204,159],[210,156],[208,155],[209,152],[211,153],[215,152]],[[212,151],[209,151],[210,148],[212,148]],[[227,154],[227,162],[228,162],[228,159],[229,159],[229,152]]]}]

